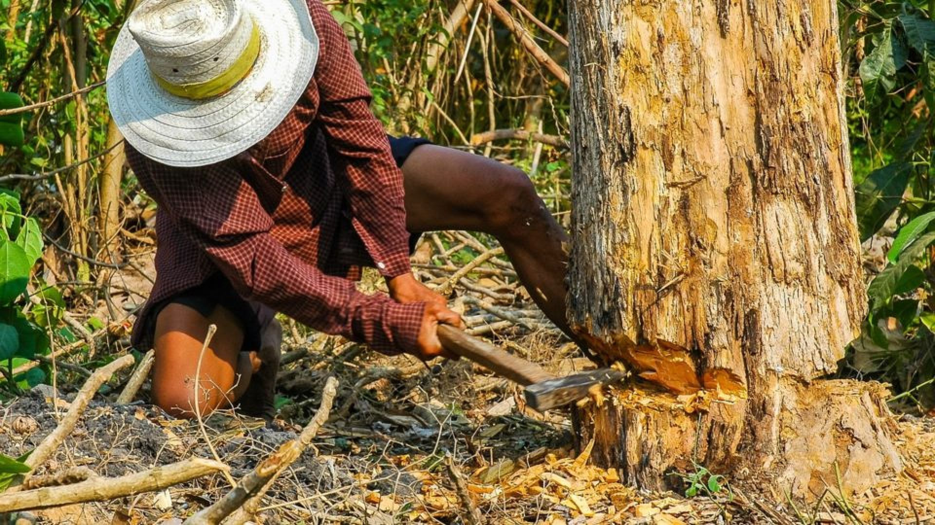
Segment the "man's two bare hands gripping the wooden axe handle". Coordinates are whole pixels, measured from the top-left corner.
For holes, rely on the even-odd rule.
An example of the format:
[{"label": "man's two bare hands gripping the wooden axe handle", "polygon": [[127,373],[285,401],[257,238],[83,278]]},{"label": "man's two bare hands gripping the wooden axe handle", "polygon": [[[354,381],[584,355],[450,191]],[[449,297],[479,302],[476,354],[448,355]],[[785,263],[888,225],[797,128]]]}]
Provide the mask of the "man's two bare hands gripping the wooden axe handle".
[{"label": "man's two bare hands gripping the wooden axe handle", "polygon": [[390,297],[397,303],[425,303],[422,328],[419,329],[418,348],[411,352],[412,355],[423,361],[430,361],[437,357],[457,359],[458,356],[442,348],[439,341],[439,323],[451,324],[458,328],[464,326],[461,316],[448,308],[445,298],[429,290],[411,274],[387,279],[386,285],[390,289]]}]

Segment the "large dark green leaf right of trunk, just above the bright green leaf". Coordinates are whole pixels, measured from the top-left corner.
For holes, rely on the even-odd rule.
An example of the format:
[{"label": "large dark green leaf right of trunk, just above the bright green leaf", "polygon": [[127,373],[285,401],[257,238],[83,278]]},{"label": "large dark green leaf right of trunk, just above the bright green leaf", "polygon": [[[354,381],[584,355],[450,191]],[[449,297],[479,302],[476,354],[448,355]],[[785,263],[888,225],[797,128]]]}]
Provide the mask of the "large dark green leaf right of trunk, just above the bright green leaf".
[{"label": "large dark green leaf right of trunk, just above the bright green leaf", "polygon": [[896,162],[873,170],[855,189],[860,240],[875,234],[893,214],[909,185],[913,164]]}]

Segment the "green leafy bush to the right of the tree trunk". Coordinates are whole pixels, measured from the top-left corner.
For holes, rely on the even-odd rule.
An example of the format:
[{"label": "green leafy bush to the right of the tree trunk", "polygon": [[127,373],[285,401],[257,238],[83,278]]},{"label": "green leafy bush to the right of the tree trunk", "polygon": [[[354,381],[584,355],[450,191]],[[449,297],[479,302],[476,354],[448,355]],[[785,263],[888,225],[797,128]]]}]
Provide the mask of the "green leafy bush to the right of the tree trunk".
[{"label": "green leafy bush to the right of the tree trunk", "polygon": [[[841,0],[848,118],[862,241],[892,237],[885,268],[868,288],[870,313],[851,365],[908,392],[935,375],[933,120],[935,21],[921,2]],[[901,226],[900,226],[901,225]]]}]

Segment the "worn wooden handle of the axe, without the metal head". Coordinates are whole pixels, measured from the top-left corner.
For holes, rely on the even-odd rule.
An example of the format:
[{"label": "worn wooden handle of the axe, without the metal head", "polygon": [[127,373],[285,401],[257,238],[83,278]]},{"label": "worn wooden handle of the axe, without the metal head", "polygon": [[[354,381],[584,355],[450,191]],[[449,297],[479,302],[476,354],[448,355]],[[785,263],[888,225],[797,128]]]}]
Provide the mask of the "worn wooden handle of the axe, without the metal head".
[{"label": "worn wooden handle of the axe, without the metal head", "polygon": [[445,349],[481,364],[498,376],[504,376],[524,387],[555,377],[538,364],[528,362],[490,343],[471,337],[451,325],[439,324],[439,340]]}]

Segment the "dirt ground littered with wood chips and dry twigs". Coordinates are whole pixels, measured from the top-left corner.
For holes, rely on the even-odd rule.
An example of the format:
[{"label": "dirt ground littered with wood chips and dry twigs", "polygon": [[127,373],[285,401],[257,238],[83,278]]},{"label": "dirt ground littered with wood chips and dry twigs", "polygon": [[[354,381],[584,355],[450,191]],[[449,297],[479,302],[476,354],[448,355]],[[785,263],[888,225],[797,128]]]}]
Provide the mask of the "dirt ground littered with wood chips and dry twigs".
[{"label": "dirt ground littered with wood chips and dry twigs", "polygon": [[[552,335],[513,339],[514,349],[556,372],[583,361],[543,359]],[[292,439],[317,407],[328,375],[340,381],[331,419],[266,500],[266,523],[462,523],[464,496],[445,468],[451,457],[468,496],[487,523],[881,523],[935,522],[935,420],[903,417],[899,442],[908,468],[866,494],[829,490],[794,507],[765,502],[756,487],[731,487],[686,498],[625,487],[572,447],[561,411],[525,409],[519,391],[468,362],[428,368],[329,339],[285,367],[281,418],[266,424],[233,412],[213,415],[209,438],[235,478]],[[570,351],[565,348],[564,351]],[[350,359],[348,359],[350,357]],[[39,387],[3,407],[0,452],[19,456],[41,441],[73,392]],[[165,417],[143,401],[95,401],[41,473],[87,466],[124,475],[196,456],[212,458],[192,421]],[[100,396],[99,396],[100,398]],[[686,473],[690,474],[690,473]],[[38,511],[38,523],[177,523],[229,490],[215,475],[162,492],[104,504]],[[761,492],[766,492],[762,490]]]}]

